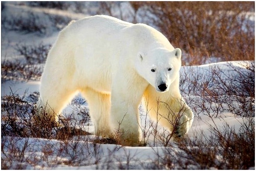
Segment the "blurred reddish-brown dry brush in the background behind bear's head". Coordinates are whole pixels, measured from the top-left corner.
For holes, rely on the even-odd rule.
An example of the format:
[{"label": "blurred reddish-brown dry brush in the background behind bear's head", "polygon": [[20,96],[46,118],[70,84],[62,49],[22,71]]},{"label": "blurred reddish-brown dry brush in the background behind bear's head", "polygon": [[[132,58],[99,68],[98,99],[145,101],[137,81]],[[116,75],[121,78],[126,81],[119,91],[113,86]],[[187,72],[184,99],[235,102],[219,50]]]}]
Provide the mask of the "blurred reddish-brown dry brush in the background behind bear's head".
[{"label": "blurred reddish-brown dry brush in the background behind bear's head", "polygon": [[[186,52],[186,65],[199,65],[209,57],[219,61],[255,59],[255,23],[250,13],[255,2],[131,2],[152,15],[174,47]],[[141,17],[151,17],[141,16]],[[157,18],[157,19],[156,19]]]}]

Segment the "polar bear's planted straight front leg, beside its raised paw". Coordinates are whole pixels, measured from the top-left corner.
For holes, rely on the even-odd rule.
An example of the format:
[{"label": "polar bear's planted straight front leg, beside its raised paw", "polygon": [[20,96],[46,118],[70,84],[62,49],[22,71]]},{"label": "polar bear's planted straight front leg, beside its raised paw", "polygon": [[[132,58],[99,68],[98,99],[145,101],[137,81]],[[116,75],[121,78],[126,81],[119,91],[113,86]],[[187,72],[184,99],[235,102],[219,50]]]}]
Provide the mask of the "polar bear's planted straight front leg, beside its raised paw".
[{"label": "polar bear's planted straight front leg, beside its raised paw", "polygon": [[[118,77],[117,77],[118,78]],[[139,104],[148,83],[139,76],[119,77],[111,90],[110,122],[114,138],[122,145],[140,145]]]}]

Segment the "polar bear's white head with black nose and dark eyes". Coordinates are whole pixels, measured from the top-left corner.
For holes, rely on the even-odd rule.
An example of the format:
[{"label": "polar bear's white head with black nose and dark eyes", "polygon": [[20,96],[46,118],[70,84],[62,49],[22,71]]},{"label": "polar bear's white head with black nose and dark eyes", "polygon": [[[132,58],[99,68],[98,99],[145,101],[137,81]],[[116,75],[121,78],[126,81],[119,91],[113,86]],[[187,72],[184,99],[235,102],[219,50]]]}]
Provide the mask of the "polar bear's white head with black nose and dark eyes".
[{"label": "polar bear's white head with black nose and dark eyes", "polygon": [[181,50],[155,48],[147,53],[138,52],[135,65],[137,72],[156,88],[156,91],[165,92],[179,76]]}]

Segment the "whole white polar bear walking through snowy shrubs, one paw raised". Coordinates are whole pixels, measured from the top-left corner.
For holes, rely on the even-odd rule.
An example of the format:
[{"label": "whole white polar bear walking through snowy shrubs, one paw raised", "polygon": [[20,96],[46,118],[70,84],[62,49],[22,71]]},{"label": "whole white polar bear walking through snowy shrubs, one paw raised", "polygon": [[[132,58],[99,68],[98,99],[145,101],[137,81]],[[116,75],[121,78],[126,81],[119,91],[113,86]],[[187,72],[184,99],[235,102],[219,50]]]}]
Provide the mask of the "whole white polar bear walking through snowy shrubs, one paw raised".
[{"label": "whole white polar bear walking through snowy shrubs, one paw raised", "polygon": [[156,29],[105,15],[83,18],[64,28],[49,51],[38,106],[47,103],[58,121],[80,92],[97,135],[121,132],[121,143],[138,144],[138,107],[145,102],[150,117],[180,137],[193,122],[179,92],[180,68],[181,50]]}]

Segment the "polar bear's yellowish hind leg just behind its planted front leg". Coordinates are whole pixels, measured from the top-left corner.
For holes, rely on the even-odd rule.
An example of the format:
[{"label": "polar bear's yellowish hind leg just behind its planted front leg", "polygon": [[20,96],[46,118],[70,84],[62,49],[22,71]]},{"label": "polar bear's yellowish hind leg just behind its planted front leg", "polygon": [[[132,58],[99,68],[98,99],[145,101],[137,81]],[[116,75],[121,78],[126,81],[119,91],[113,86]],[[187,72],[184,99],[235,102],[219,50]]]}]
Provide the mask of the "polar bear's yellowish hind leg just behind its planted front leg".
[{"label": "polar bear's yellowish hind leg just behind its planted front leg", "polygon": [[81,91],[81,94],[88,102],[90,117],[95,125],[96,135],[102,137],[111,137],[111,130],[109,125],[111,96],[110,94],[103,94],[86,88]]}]

